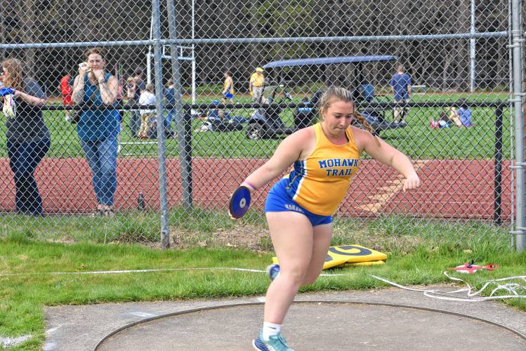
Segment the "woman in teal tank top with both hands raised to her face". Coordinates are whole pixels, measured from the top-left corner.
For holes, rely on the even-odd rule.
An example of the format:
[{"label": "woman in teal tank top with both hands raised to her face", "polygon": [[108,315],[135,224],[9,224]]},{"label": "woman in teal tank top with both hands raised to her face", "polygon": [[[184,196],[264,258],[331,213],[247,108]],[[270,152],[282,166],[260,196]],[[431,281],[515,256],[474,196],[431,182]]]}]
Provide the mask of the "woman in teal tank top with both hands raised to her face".
[{"label": "woman in teal tank top with both hands raised to her face", "polygon": [[102,48],[86,51],[86,62],[79,65],[79,75],[73,84],[72,99],[76,104],[107,106],[106,110],[91,110],[81,114],[77,124],[82,150],[91,168],[93,191],[97,198],[97,213],[112,216],[117,190],[117,105],[118,81],[105,72]]}]

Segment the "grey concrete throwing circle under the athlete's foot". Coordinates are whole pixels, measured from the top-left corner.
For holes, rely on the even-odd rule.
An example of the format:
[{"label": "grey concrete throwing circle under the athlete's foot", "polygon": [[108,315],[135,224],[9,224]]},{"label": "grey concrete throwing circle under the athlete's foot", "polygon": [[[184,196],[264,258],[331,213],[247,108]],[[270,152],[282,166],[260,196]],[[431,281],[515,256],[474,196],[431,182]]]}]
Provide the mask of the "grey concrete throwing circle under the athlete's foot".
[{"label": "grey concrete throwing circle under the athlete's foot", "polygon": [[[263,305],[165,314],[124,326],[95,350],[251,350]],[[296,302],[283,335],[295,350],[526,350],[526,337],[494,322],[404,305]]]}]

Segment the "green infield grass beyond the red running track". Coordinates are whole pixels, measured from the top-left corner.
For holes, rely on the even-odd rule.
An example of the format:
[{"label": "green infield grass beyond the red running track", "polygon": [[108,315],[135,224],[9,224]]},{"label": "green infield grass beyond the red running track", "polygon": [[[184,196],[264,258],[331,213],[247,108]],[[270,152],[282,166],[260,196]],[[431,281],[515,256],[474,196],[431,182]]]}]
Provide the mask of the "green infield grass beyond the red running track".
[{"label": "green infield grass beyond the red running track", "polygon": [[[294,95],[296,102],[303,94]],[[468,100],[497,101],[506,100],[506,94],[483,95],[468,94],[426,94],[414,95],[414,102]],[[198,99],[198,103],[210,103],[217,99],[207,96]],[[380,96],[379,101],[390,101],[390,96]],[[239,97],[236,102],[250,102],[248,97]],[[407,120],[409,126],[402,129],[383,131],[381,136],[388,143],[399,148],[413,159],[492,159],[494,157],[494,109],[473,107],[473,128],[445,128],[431,130],[429,119],[438,119],[439,108],[412,108]],[[237,116],[249,117],[251,110],[231,112]],[[284,122],[292,126],[293,111],[282,112]],[[386,112],[388,120],[392,112]],[[51,130],[51,150],[47,157],[84,157],[75,126],[64,120],[61,111],[44,112],[44,119]],[[157,145],[129,145],[140,140],[131,138],[128,128],[129,114],[124,116],[124,130],[121,133],[122,150],[119,157],[157,157]],[[0,145],[5,145],[5,117],[0,117]],[[192,130],[201,125],[199,119],[192,121]],[[510,116],[504,110],[504,157],[510,154]],[[155,140],[150,140],[155,141]],[[268,158],[272,155],[280,140],[247,140],[244,131],[221,133],[192,133],[192,155],[195,157],[254,157]],[[6,147],[0,147],[0,157],[6,157]],[[178,157],[176,139],[166,140],[166,156]]]}]

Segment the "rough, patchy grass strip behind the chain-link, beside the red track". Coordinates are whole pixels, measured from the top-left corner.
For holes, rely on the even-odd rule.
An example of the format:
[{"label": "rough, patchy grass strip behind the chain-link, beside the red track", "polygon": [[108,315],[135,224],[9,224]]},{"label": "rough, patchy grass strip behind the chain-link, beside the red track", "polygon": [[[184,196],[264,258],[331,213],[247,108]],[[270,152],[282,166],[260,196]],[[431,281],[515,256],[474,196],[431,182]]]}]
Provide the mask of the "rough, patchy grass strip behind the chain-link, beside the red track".
[{"label": "rough, patchy grass strip behind the chain-link, beside the red track", "polygon": [[[33,239],[63,242],[125,242],[155,245],[160,241],[159,213],[154,211],[118,212],[112,218],[57,215],[46,218],[4,214],[0,216],[1,232],[18,232]],[[198,207],[192,212],[185,208],[172,208],[169,212],[170,230],[192,246],[197,241],[213,245],[221,231],[243,232],[251,230],[264,232],[264,213],[249,211],[243,220],[235,223],[226,211],[212,211]],[[509,228],[497,227],[491,222],[480,220],[438,220],[433,218],[411,218],[398,215],[384,216],[371,220],[340,217],[334,220],[334,241],[346,244],[360,241],[377,249],[409,249],[419,244],[440,242],[470,243],[484,240],[494,245],[509,245]],[[250,233],[249,233],[250,234]],[[0,234],[0,238],[2,234]],[[267,246],[268,247],[268,246]],[[265,245],[263,248],[265,249]]]}]

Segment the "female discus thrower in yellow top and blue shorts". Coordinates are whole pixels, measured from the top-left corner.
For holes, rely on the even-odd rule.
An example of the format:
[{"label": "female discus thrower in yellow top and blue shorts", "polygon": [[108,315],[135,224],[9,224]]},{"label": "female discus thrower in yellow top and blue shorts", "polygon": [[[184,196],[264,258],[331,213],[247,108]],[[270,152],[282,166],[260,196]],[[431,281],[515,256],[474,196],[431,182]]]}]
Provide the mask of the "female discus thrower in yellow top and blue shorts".
[{"label": "female discus thrower in yellow top and blue shorts", "polygon": [[[293,166],[272,187],[265,203],[280,265],[268,269],[272,282],[265,299],[263,328],[252,340],[256,350],[292,350],[281,336],[282,322],[300,286],[313,284],[322,272],[331,244],[331,216],[357,171],[360,154],[367,152],[400,172],[405,177],[404,191],[420,185],[409,158],[375,136],[357,113],[350,91],[327,89],[319,107],[320,123],[289,135],[272,158],[242,183],[255,191]],[[351,126],[353,119],[367,131]]]}]

